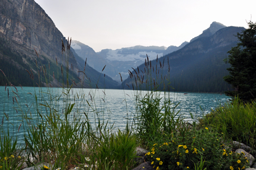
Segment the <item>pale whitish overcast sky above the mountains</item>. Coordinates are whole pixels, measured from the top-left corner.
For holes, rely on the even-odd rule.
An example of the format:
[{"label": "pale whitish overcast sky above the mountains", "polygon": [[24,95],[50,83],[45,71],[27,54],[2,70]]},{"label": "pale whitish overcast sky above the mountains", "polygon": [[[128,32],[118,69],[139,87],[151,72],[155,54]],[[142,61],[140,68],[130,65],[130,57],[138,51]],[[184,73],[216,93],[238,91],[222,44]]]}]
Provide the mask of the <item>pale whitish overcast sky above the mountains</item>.
[{"label": "pale whitish overcast sky above the mountains", "polygon": [[213,21],[248,28],[255,0],[35,0],[66,38],[100,52],[141,46],[180,46]]}]

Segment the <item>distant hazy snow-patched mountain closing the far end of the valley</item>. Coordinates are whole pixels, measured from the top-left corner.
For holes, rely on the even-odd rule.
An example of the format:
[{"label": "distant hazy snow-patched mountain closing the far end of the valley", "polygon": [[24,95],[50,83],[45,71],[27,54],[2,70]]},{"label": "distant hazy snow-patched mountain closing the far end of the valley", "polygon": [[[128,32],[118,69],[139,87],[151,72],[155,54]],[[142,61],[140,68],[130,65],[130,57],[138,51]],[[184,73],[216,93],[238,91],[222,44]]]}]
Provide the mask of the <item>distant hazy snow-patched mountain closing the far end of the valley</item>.
[{"label": "distant hazy snow-patched mountain closing the far end of the valley", "polygon": [[104,73],[119,83],[121,83],[119,73],[126,77],[129,75],[128,70],[142,64],[147,54],[150,59],[156,59],[156,56],[163,56],[166,50],[164,46],[134,46],[117,50],[104,49],[95,53],[91,47],[79,41],[73,41],[71,46],[82,59],[87,58],[89,65],[95,70],[101,72],[106,65]]}]

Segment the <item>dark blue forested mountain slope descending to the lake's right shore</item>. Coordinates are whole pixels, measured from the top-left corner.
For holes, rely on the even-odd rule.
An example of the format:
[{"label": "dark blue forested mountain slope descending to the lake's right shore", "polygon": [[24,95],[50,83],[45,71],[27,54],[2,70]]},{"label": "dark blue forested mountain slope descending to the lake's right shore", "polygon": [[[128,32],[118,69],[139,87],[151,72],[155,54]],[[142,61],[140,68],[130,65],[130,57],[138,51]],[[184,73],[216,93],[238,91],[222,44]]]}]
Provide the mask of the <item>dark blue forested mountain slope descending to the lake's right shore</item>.
[{"label": "dark blue forested mountain slope descending to the lake's right shore", "polygon": [[226,68],[229,68],[223,59],[228,57],[227,52],[231,47],[236,46],[238,40],[235,35],[244,29],[224,27],[212,36],[199,36],[182,49],[158,60],[146,60],[136,72],[133,70],[130,73],[131,76],[122,86],[131,89],[133,84],[134,88],[140,86],[145,89],[146,79],[152,75],[152,79],[147,82],[149,89],[159,85],[158,88],[170,91],[226,91],[231,86],[223,80],[223,76],[228,75]]}]

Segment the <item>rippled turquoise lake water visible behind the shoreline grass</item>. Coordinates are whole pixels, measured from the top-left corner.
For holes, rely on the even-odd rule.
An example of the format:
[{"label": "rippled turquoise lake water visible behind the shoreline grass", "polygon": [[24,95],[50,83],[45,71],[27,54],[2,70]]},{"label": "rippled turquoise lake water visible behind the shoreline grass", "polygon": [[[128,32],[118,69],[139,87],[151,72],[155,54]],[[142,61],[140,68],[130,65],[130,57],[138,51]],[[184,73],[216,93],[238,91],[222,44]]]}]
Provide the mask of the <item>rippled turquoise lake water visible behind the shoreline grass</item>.
[{"label": "rippled turquoise lake water visible behind the shoreline grass", "polygon": [[[49,105],[50,108],[62,113],[66,101],[69,101],[71,104],[75,103],[69,118],[72,118],[74,112],[81,115],[87,113],[89,120],[94,124],[95,111],[97,111],[102,120],[114,123],[116,129],[124,129],[127,118],[132,118],[135,114],[135,91],[71,89],[67,99],[65,94],[68,90],[62,88],[21,88],[20,86],[17,89],[10,86],[7,88],[9,97],[5,86],[0,86],[0,124],[5,131],[9,130],[10,135],[18,136],[19,140],[23,139],[24,129],[37,123],[34,119],[38,116],[36,109],[42,114],[49,114],[49,109],[40,104]],[[145,91],[140,92],[145,93]],[[164,92],[160,95],[164,97]],[[168,95],[174,103],[180,102],[177,111],[180,110],[180,114],[188,121],[192,121],[190,113],[196,118],[201,117],[229,99],[223,94],[208,93],[170,92]]]}]

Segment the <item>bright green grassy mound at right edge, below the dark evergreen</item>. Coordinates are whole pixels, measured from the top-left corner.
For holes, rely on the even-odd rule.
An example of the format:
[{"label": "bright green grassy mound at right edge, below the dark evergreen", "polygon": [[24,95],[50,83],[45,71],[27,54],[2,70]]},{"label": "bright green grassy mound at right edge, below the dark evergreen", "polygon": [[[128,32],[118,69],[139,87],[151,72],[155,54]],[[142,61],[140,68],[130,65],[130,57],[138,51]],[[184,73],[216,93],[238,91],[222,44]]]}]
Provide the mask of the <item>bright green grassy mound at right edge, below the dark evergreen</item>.
[{"label": "bright green grassy mound at right edge, below the dark evergreen", "polygon": [[199,120],[198,126],[208,126],[224,133],[226,139],[236,140],[255,148],[256,103],[244,104],[239,98],[220,105]]}]

